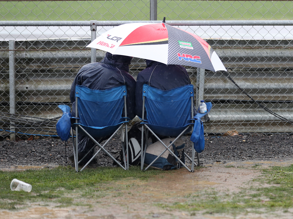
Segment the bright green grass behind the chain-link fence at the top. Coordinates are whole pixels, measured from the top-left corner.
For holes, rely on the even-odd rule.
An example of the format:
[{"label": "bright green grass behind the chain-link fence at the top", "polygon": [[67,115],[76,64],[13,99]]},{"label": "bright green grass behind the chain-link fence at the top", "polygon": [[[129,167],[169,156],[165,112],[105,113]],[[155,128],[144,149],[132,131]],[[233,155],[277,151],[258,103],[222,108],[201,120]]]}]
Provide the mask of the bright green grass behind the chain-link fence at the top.
[{"label": "bright green grass behind the chain-link fence at the top", "polygon": [[[3,1],[0,20],[149,20],[149,1]],[[158,20],[292,20],[291,1],[158,1]]]}]

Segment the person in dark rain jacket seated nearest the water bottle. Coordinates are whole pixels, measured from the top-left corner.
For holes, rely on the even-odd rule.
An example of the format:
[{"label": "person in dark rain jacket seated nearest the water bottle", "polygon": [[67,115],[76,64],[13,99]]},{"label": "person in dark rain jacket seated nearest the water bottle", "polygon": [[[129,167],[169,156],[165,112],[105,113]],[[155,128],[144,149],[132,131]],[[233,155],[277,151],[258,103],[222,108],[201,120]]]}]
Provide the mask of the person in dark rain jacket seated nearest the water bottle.
[{"label": "person in dark rain jacket seated nearest the water bottle", "polygon": [[[146,60],[146,63],[147,68],[137,75],[135,89],[135,109],[136,114],[140,118],[142,118],[142,86],[144,84],[160,90],[171,90],[176,87],[191,84],[186,69],[181,65],[166,65],[148,59]],[[144,115],[146,116],[145,110]]]}]

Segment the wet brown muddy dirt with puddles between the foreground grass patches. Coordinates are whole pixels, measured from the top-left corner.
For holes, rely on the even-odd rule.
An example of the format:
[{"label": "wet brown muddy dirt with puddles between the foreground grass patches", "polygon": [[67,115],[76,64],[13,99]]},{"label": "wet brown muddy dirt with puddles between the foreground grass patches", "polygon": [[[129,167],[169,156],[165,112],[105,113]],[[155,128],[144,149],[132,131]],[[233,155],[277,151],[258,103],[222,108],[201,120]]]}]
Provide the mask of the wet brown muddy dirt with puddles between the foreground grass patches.
[{"label": "wet brown muddy dirt with puddles between the foreground grass patches", "polygon": [[[223,215],[206,214],[204,211],[196,214],[181,209],[168,210],[160,207],[162,204],[184,202],[188,200],[188,194],[202,194],[213,190],[219,194],[233,194],[239,192],[240,188],[260,185],[253,182],[255,177],[260,175],[260,170],[251,168],[258,164],[262,167],[272,165],[287,166],[293,163],[288,162],[217,162],[208,165],[206,168],[189,173],[184,168],[169,172],[165,177],[160,175],[148,181],[135,179],[119,180],[102,184],[100,187],[111,187],[99,199],[86,199],[79,201],[91,204],[87,206],[56,207],[52,202],[35,203],[29,208],[17,211],[0,211],[0,218],[13,219],[47,219],[47,218],[72,218],[72,219],[129,219],[129,218],[196,218],[196,219],[273,219],[273,218],[292,218],[293,209],[287,213],[283,211],[263,214],[248,213],[247,215]],[[226,166],[234,167],[227,168]],[[241,167],[241,168],[237,168]]]}]

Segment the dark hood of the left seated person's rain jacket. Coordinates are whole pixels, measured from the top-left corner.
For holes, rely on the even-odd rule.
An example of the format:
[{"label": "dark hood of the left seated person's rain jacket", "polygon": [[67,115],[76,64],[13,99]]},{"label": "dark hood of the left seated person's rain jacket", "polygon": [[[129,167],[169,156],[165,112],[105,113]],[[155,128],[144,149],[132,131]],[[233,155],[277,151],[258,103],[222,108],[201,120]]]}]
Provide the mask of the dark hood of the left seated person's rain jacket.
[{"label": "dark hood of the left seated person's rain jacket", "polygon": [[129,64],[131,63],[131,56],[112,55],[107,52],[102,63],[117,66],[118,68],[129,72]]}]

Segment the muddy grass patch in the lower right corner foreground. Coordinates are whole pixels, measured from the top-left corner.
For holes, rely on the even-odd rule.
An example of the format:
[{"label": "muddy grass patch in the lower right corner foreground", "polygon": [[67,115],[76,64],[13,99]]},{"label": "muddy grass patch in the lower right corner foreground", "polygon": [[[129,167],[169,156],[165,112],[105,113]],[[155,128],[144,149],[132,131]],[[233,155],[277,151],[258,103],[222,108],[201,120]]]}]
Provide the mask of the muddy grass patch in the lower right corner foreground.
[{"label": "muddy grass patch in the lower right corner foreground", "polygon": [[[256,165],[258,166],[258,165]],[[168,209],[188,210],[191,213],[204,210],[205,213],[262,213],[277,209],[288,212],[293,207],[293,165],[263,169],[263,175],[255,181],[271,184],[270,187],[251,187],[236,194],[219,194],[213,189],[202,194],[191,195],[183,203],[162,204]],[[265,210],[264,210],[265,209]]]}]

